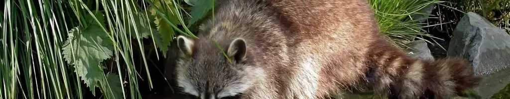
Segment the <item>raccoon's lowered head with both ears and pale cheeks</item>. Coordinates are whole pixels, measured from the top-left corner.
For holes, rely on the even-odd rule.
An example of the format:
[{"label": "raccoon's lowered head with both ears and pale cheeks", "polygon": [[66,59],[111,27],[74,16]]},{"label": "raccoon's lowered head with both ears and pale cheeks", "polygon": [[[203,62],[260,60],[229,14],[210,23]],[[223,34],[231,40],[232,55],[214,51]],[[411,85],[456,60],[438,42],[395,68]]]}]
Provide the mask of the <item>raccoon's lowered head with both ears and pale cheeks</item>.
[{"label": "raccoon's lowered head with both ears and pale cheeks", "polygon": [[176,81],[192,98],[240,98],[261,79],[263,71],[253,67],[242,39],[233,40],[226,55],[208,40],[178,36],[177,46],[181,58],[177,60]]}]

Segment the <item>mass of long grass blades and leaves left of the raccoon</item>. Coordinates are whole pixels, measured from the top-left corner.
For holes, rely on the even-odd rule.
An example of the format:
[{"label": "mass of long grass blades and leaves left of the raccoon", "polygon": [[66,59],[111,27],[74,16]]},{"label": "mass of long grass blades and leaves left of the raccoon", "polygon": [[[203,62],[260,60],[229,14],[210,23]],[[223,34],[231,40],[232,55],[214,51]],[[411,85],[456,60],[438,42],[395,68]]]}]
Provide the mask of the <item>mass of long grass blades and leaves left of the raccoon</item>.
[{"label": "mass of long grass blades and leaves left of the raccoon", "polygon": [[0,98],[142,98],[147,49],[165,58],[175,35],[194,37],[181,2],[4,1]]}]

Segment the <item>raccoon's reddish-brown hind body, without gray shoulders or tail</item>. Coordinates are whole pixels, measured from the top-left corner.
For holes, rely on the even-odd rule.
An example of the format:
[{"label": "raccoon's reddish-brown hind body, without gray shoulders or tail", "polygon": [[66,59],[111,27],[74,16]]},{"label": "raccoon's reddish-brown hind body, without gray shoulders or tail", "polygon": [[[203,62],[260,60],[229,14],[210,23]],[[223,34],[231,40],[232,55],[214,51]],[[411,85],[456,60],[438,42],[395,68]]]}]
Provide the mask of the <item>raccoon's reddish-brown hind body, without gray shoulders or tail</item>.
[{"label": "raccoon's reddish-brown hind body, without gray shoulders or tail", "polygon": [[[354,86],[365,76],[373,44],[390,44],[378,34],[374,12],[363,0],[271,1],[288,27],[292,69],[285,85],[291,97],[314,98]],[[398,50],[398,49],[396,49]],[[281,67],[281,68],[289,68]]]}]

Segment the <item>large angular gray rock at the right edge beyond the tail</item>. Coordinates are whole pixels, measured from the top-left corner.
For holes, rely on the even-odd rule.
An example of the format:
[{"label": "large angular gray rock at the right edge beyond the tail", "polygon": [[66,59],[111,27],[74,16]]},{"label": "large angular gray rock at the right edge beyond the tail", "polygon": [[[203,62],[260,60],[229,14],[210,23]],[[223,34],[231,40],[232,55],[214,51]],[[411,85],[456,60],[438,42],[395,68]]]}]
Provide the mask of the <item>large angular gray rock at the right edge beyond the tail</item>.
[{"label": "large angular gray rock at the right edge beyond the tail", "polygon": [[447,56],[463,57],[473,63],[482,77],[475,88],[489,98],[510,81],[510,36],[476,13],[469,12],[457,24]]}]

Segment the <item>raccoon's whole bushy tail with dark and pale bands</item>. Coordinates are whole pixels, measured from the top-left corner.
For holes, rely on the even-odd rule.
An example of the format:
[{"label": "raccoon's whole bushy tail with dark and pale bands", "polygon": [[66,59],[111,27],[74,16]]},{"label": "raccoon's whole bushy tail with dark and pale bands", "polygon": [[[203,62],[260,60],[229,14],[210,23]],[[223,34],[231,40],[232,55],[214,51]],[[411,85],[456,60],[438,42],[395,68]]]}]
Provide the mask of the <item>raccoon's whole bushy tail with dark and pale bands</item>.
[{"label": "raccoon's whole bushy tail with dark and pale bands", "polygon": [[480,79],[470,63],[460,58],[394,58],[375,69],[376,79],[372,81],[376,92],[387,93],[390,98],[452,98],[477,86]]}]

